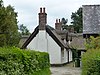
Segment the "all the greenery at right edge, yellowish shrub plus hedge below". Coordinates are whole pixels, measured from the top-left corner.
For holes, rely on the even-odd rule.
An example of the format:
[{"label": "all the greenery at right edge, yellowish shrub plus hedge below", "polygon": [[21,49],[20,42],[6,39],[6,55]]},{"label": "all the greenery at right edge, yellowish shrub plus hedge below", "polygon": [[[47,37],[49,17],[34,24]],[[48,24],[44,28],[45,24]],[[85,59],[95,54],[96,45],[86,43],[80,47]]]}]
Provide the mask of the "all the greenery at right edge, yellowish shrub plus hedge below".
[{"label": "all the greenery at right edge, yellowish shrub plus hedge below", "polygon": [[82,75],[100,75],[100,37],[86,42],[87,52],[82,56]]}]

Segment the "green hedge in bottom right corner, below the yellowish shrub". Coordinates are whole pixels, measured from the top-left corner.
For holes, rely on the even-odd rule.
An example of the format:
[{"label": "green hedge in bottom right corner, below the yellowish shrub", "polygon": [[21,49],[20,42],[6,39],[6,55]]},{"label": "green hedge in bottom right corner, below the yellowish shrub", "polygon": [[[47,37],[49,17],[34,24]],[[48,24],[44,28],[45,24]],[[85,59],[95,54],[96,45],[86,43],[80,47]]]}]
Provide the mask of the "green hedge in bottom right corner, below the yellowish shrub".
[{"label": "green hedge in bottom right corner, below the yellowish shrub", "polygon": [[82,75],[100,75],[100,49],[88,50],[82,56]]}]

